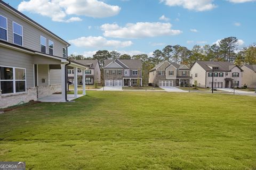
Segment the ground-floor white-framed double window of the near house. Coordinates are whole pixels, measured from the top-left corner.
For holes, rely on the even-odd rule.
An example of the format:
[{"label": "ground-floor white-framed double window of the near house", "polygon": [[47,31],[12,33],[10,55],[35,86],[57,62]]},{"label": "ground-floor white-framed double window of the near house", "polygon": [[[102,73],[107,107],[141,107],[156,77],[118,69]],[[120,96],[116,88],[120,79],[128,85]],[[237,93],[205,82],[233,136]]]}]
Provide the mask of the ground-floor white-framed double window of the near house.
[{"label": "ground-floor white-framed double window of the near house", "polygon": [[0,89],[2,94],[26,91],[26,69],[0,66]]}]

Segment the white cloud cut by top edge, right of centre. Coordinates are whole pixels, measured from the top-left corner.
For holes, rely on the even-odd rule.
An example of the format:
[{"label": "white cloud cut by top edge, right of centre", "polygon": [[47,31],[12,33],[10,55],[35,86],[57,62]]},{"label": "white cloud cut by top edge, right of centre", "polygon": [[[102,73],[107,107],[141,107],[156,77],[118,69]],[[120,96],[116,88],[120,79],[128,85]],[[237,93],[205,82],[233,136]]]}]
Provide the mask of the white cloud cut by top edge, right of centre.
[{"label": "white cloud cut by top edge, right of centre", "polygon": [[[213,0],[159,0],[161,3],[165,3],[168,6],[182,6],[188,10],[194,11],[208,11],[216,7],[213,4]],[[246,0],[245,0],[246,1]],[[247,0],[248,1],[248,0]]]}]

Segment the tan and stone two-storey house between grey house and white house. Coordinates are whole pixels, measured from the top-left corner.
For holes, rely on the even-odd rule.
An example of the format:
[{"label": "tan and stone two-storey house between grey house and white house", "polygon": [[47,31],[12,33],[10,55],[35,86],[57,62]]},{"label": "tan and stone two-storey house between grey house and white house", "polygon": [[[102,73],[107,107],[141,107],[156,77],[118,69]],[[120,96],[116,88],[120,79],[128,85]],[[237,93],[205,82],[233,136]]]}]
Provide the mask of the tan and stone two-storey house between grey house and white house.
[{"label": "tan and stone two-storey house between grey house and white house", "polygon": [[153,86],[189,86],[189,67],[163,61],[149,71],[149,83]]}]

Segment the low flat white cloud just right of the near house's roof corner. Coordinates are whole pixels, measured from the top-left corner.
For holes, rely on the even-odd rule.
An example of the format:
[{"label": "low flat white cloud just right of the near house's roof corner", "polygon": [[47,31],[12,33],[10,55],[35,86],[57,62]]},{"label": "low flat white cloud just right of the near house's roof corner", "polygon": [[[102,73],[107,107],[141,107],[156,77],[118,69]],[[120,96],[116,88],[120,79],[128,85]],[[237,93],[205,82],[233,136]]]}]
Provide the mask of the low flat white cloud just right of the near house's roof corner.
[{"label": "low flat white cloud just right of the near house's roof corner", "polygon": [[117,41],[107,40],[104,37],[80,37],[77,39],[69,40],[70,44],[77,47],[91,47],[91,48],[102,48],[102,47],[128,47],[133,43],[132,41]]}]

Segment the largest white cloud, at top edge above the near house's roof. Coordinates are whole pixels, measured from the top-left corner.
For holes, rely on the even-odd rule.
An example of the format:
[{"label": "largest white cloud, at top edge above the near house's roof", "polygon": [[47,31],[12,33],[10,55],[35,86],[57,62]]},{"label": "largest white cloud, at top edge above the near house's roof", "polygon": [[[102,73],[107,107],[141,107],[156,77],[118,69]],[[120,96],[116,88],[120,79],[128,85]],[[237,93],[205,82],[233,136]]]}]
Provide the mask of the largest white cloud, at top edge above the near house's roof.
[{"label": "largest white cloud, at top edge above the near house's roof", "polygon": [[119,6],[108,5],[98,0],[30,0],[18,5],[19,11],[48,16],[52,21],[82,21],[78,17],[67,19],[68,15],[84,15],[93,18],[105,18],[119,13]]}]

